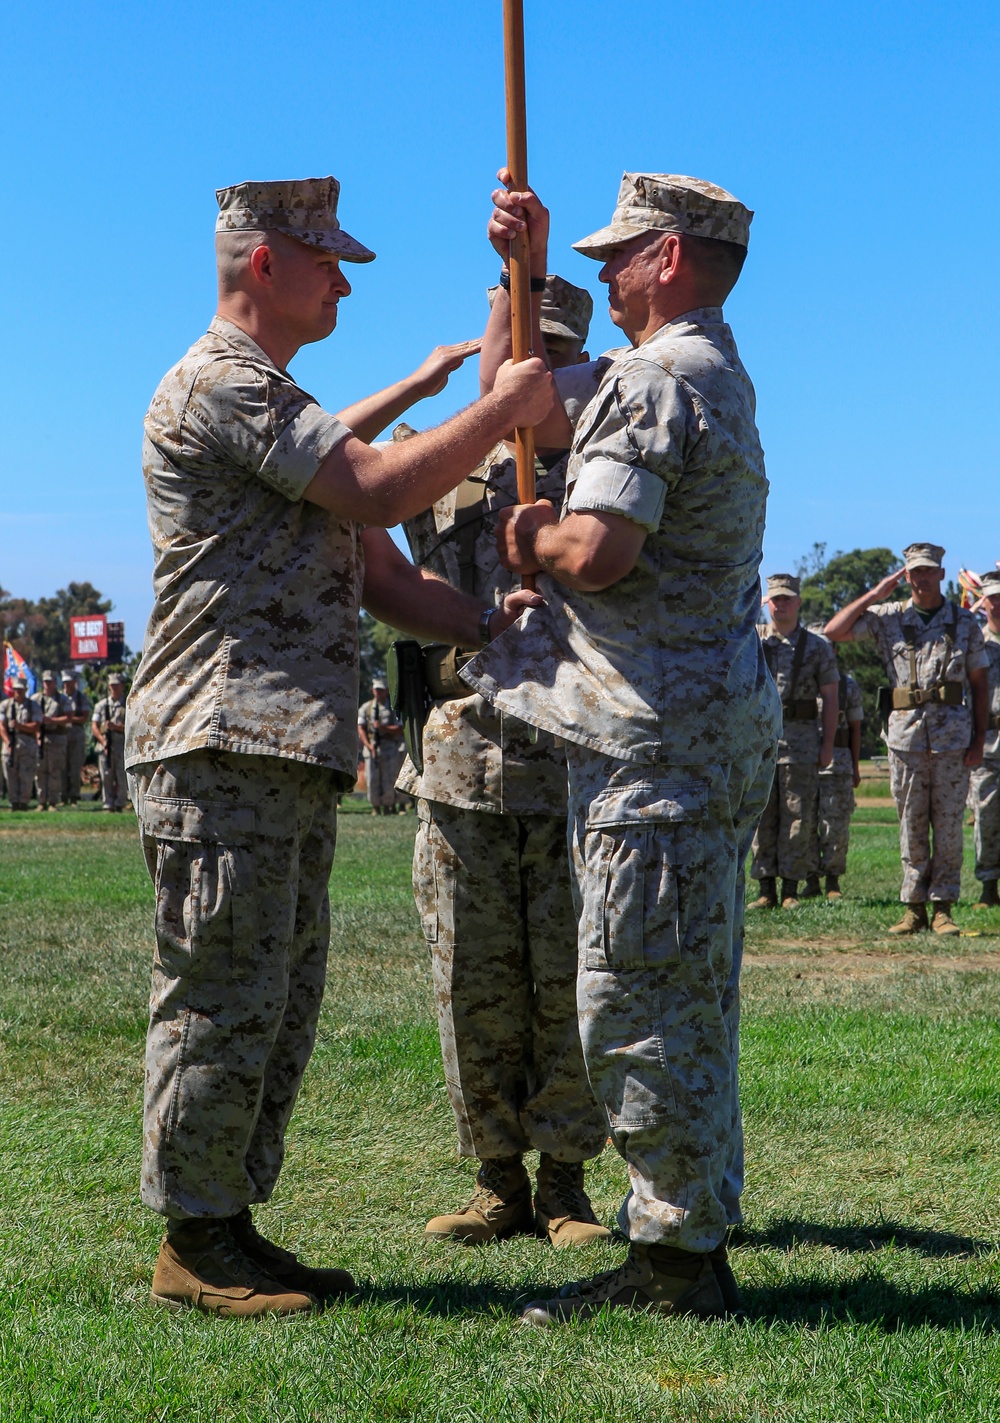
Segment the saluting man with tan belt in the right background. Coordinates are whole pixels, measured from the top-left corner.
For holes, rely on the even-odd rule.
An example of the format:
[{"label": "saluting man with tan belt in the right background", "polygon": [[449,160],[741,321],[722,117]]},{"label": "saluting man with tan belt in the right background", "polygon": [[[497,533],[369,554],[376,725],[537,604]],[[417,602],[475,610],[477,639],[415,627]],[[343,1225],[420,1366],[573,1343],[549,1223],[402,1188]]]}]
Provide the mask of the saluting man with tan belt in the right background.
[{"label": "saluting man with tan belt in the right background", "polygon": [[[990,659],[973,615],[942,593],[943,558],[939,544],[910,544],[905,568],[855,598],[825,629],[832,642],[872,638],[892,683],[886,741],[906,912],[889,933],[962,932],[952,908],[962,892],[969,773],[983,760]],[[903,578],[909,602],[888,602]]]}]

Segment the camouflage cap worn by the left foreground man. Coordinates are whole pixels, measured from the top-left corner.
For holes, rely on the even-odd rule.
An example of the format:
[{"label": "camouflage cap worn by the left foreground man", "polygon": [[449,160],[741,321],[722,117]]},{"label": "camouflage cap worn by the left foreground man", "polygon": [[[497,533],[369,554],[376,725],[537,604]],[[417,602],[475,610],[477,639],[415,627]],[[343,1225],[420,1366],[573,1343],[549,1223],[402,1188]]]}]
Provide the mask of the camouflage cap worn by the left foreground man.
[{"label": "camouflage cap worn by the left foreground man", "polygon": [[216,232],[283,232],[310,248],[323,248],[344,262],[373,262],[374,252],[351,238],[337,219],[336,178],[289,178],[280,182],[238,182],[218,188]]}]

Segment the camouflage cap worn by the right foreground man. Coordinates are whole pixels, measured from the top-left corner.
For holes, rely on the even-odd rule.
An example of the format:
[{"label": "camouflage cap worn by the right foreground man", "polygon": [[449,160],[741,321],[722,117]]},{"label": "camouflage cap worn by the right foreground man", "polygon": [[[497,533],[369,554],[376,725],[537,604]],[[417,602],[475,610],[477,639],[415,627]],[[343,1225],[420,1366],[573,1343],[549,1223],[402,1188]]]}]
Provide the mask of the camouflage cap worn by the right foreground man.
[{"label": "camouflage cap worn by the right foreground man", "polygon": [[573,243],[585,258],[603,262],[607,249],[644,232],[687,232],[693,238],[750,245],[754,215],[725,188],[681,174],[623,174],[615,216],[606,228]]}]

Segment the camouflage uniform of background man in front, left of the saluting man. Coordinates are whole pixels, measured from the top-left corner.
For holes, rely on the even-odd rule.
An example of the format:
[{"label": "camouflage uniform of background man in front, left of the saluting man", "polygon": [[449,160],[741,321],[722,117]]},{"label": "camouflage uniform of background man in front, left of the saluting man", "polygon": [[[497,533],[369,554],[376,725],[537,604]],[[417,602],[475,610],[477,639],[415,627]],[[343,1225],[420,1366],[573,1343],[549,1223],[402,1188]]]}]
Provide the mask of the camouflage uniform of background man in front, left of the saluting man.
[{"label": "camouflage uniform of background man in front, left of the saluting man", "polygon": [[[761,626],[761,643],[785,714],[778,740],[774,785],[754,837],[754,879],[805,879],[817,872],[817,820],[819,813],[819,739],[822,723],[792,717],[795,704],[815,709],[819,687],[836,682],[836,655],[831,645],[799,623],[784,638],[771,625]],[[799,638],[805,653],[791,684],[792,660]]]}]

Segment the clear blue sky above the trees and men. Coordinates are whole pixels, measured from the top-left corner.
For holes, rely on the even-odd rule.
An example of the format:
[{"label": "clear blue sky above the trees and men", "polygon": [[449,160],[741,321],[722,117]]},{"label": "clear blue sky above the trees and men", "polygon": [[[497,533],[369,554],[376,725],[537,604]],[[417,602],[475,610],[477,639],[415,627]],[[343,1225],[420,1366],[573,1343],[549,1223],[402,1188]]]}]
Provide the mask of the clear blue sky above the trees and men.
[{"label": "clear blue sky above the trees and men", "polygon": [[[610,216],[624,168],[755,209],[727,313],[758,391],[765,568],[814,542],[932,538],[1000,558],[996,4],[525,0],[529,168],[549,266]],[[7,438],[0,585],[88,578],[138,646],[142,414],[213,306],[213,191],[336,174],[341,324],[292,370],[340,408],[478,333],[504,157],[501,0],[10,7],[0,55]],[[475,370],[415,408],[442,418]]]}]

